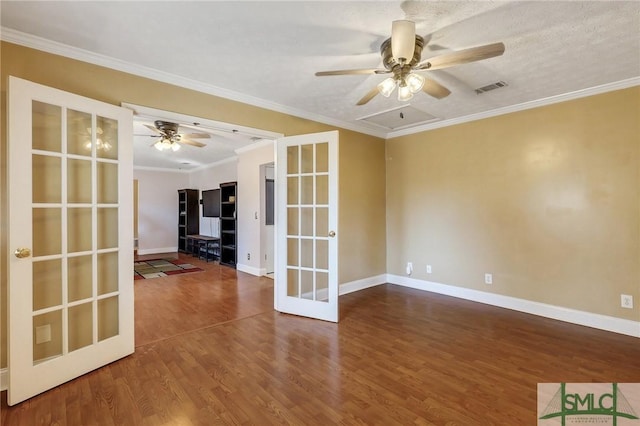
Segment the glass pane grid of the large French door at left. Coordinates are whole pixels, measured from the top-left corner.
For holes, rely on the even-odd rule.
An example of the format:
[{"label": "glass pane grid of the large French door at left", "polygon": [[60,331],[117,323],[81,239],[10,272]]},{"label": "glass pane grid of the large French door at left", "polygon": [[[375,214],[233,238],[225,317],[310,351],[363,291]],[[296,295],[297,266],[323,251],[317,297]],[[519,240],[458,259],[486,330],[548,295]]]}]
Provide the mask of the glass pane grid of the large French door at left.
[{"label": "glass pane grid of the large French door at left", "polygon": [[[117,316],[101,315],[94,270],[98,250],[118,247],[117,157],[99,158],[105,144],[117,152],[118,140],[115,120],[38,101],[32,114],[34,145],[44,148],[32,150],[35,365],[97,343],[99,330],[117,334]],[[57,276],[43,280],[47,270]]]}]

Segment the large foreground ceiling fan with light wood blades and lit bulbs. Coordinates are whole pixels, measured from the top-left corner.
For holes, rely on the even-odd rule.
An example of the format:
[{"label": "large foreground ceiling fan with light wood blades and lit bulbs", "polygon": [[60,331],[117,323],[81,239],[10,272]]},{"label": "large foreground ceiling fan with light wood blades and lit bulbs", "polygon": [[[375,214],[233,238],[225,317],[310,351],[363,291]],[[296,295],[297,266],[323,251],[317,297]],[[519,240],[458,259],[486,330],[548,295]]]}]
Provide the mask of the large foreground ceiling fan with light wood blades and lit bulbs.
[{"label": "large foreground ceiling fan with light wood blades and lit bulbs", "polygon": [[500,56],[504,53],[503,43],[493,43],[445,53],[421,61],[424,39],[416,34],[416,24],[412,21],[393,21],[391,37],[380,46],[384,68],[320,71],[316,76],[348,74],[392,74],[371,89],[356,105],[364,105],[378,93],[389,97],[398,88],[398,100],[408,101],[415,93],[423,91],[437,99],[448,96],[451,91],[435,80],[418,72],[449,68],[469,62]]}]

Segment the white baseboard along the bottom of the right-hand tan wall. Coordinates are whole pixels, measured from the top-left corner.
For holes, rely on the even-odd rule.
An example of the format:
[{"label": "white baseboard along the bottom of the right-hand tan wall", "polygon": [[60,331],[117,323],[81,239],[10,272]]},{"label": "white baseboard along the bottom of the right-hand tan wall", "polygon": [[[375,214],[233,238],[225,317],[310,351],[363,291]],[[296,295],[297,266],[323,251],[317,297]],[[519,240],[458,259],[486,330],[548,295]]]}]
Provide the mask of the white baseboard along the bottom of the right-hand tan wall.
[{"label": "white baseboard along the bottom of the right-hand tan wall", "polygon": [[400,275],[387,274],[387,282],[640,338],[640,322],[638,321],[578,311],[562,306],[548,305],[546,303],[533,302],[526,299],[518,299],[516,297],[487,293],[431,281],[423,281]]}]

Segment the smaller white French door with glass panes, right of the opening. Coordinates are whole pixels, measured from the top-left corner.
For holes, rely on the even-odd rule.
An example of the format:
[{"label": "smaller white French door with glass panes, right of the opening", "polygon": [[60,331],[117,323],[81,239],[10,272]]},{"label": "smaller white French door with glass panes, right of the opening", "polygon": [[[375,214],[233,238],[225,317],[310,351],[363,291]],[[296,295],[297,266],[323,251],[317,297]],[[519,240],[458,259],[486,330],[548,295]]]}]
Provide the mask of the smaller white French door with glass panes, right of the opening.
[{"label": "smaller white French door with glass panes, right of the opening", "polygon": [[276,310],[338,322],[338,132],[278,139]]}]

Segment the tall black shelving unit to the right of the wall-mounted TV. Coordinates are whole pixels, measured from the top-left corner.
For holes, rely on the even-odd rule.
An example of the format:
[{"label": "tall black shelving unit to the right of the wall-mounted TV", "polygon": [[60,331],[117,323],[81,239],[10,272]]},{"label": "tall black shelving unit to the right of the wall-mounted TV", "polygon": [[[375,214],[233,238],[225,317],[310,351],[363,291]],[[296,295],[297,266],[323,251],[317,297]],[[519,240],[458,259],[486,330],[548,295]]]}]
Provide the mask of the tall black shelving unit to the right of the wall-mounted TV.
[{"label": "tall black shelving unit to the right of the wall-mounted TV", "polygon": [[236,267],[237,198],[236,182],[220,184],[220,264]]}]

